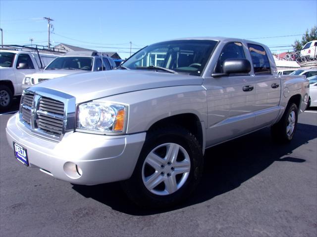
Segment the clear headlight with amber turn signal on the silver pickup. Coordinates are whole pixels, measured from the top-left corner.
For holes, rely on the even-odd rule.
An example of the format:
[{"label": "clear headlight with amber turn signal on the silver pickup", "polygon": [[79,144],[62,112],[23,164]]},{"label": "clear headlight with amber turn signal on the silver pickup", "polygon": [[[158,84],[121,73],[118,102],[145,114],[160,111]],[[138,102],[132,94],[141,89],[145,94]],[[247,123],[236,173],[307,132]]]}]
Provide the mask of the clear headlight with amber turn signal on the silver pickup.
[{"label": "clear headlight with amber turn signal on the silver pickup", "polygon": [[127,107],[114,103],[89,102],[78,106],[77,128],[97,132],[122,132]]}]

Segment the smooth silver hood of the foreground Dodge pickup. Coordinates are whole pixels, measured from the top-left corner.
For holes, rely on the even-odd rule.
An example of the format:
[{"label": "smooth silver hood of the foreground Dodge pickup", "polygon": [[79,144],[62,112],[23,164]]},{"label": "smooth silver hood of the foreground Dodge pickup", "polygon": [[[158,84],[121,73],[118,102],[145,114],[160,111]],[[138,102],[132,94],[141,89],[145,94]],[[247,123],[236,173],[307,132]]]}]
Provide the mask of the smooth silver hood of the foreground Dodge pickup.
[{"label": "smooth silver hood of the foreground Dodge pickup", "polygon": [[141,70],[111,70],[70,75],[47,80],[32,87],[45,87],[72,95],[76,103],[126,92],[179,85],[201,85],[203,78]]}]

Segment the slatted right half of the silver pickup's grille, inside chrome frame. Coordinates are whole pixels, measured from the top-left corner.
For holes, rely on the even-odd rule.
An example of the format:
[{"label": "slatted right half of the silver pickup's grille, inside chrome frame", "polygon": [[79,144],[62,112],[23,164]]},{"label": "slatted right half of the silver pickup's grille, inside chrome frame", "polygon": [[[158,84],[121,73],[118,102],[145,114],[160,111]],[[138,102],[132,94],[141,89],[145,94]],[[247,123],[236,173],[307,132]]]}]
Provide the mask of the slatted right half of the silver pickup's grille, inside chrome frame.
[{"label": "slatted right half of the silver pickup's grille, inside chrome frame", "polygon": [[42,97],[37,111],[37,125],[51,135],[61,135],[63,132],[64,103]]}]

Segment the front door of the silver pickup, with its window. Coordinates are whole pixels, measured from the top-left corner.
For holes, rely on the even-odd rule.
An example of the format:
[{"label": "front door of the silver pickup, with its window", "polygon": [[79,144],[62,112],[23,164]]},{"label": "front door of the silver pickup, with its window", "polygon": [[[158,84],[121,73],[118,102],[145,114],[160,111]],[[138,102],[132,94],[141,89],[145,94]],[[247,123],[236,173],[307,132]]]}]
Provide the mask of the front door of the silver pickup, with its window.
[{"label": "front door of the silver pickup, with its window", "polygon": [[[229,58],[248,59],[241,42],[223,47],[214,73],[222,73],[222,64]],[[250,88],[254,88],[255,81],[250,73],[206,78],[204,86],[208,101],[207,147],[252,131],[255,90]]]}]

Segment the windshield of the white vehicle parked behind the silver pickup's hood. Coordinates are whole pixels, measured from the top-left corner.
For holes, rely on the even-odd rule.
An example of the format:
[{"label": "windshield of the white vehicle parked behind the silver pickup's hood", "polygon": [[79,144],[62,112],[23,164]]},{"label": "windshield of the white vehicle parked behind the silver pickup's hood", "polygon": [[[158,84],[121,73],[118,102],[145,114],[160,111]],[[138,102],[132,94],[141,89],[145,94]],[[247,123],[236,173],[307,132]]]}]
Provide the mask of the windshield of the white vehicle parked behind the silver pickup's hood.
[{"label": "windshield of the white vehicle parked behind the silver pickup's hood", "polygon": [[92,68],[92,57],[59,57],[55,58],[45,70],[69,69],[91,71]]}]

